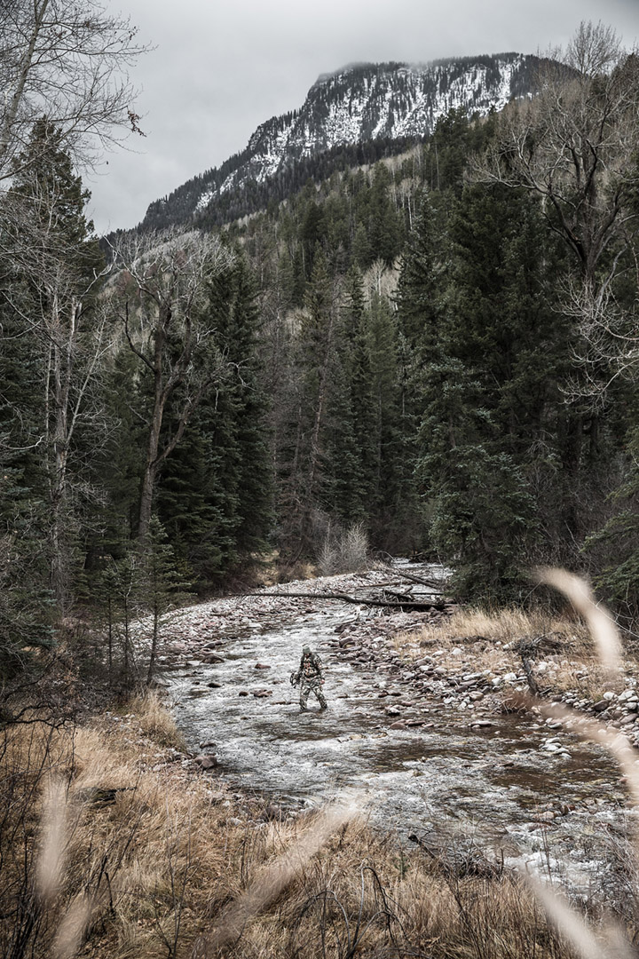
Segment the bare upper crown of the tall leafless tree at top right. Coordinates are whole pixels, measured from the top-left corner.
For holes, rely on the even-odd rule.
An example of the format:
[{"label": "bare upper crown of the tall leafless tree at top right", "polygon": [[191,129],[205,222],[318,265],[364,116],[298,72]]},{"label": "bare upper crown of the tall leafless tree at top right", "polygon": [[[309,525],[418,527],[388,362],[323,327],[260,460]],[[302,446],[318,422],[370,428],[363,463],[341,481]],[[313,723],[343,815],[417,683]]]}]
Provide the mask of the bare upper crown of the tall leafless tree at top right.
[{"label": "bare upper crown of the tall leafless tree at top right", "polygon": [[637,217],[628,198],[637,183],[639,59],[609,28],[582,23],[565,55],[544,61],[538,86],[535,98],[504,111],[472,175],[538,194],[594,285],[605,251],[628,244]]}]

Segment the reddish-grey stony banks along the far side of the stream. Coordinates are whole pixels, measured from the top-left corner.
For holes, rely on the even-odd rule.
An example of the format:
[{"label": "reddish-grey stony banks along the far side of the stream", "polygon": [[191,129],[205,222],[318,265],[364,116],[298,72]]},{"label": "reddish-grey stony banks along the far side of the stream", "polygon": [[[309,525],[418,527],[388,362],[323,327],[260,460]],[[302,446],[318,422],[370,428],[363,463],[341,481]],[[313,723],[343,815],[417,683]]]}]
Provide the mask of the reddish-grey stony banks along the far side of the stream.
[{"label": "reddish-grey stony banks along the far side of the stream", "polygon": [[[391,585],[397,585],[397,578],[397,572],[380,571],[323,577],[290,583],[285,588],[264,589],[259,596],[227,597],[178,611],[171,617],[168,641],[158,664],[163,670],[189,664],[194,668],[194,684],[197,684],[197,667],[221,662],[220,654],[230,639],[253,631],[266,633],[282,621],[304,620],[327,609],[339,610],[339,600],[322,598],[327,592],[362,598],[384,595]],[[286,591],[304,592],[307,596],[284,596]],[[333,635],[323,644],[324,654],[330,651],[331,659],[377,673],[380,680],[376,693],[380,701],[378,713],[389,720],[393,729],[428,725],[428,713],[423,710],[428,711],[437,704],[459,711],[470,727],[488,728],[493,725],[495,715],[521,709],[517,694],[529,691],[529,677],[517,654],[516,637],[510,643],[502,643],[491,640],[490,636],[460,635],[447,638],[438,646],[437,640],[432,640],[437,631],[431,628],[431,639],[424,643],[424,626],[442,623],[455,610],[451,603],[443,611],[409,612],[371,608],[364,603],[341,606],[345,619],[333,627]],[[264,649],[262,658],[263,663],[255,664],[256,680],[268,675],[268,649]],[[630,742],[639,747],[636,660],[627,659],[618,676],[606,676],[607,685],[594,696],[584,694],[583,689],[592,685],[590,673],[597,672],[597,664],[591,657],[575,658],[570,647],[541,652],[532,662],[532,670],[544,700],[595,715],[608,727],[623,731]],[[574,681],[572,689],[566,688],[566,673]],[[558,690],[555,680],[559,674],[561,688]],[[209,682],[209,686],[215,687],[215,681]],[[240,690],[240,695],[255,697],[272,693],[272,685],[262,682]],[[539,716],[536,706],[532,707],[532,713]],[[559,739],[560,720],[545,718],[540,722],[554,734],[545,740],[542,748],[550,753],[567,753]]]}]

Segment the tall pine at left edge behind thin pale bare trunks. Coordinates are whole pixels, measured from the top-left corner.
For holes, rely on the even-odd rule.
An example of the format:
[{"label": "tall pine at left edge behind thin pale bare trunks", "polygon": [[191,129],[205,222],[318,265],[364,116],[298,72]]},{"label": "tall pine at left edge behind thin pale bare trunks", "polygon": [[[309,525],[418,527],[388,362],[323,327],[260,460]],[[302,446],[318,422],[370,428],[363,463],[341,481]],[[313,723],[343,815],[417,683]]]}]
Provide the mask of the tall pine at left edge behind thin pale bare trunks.
[{"label": "tall pine at left edge behind thin pale bare trunks", "polygon": [[78,434],[100,403],[95,373],[105,321],[96,309],[103,258],[84,212],[89,194],[60,139],[46,118],[35,124],[1,212],[11,253],[3,279],[5,330],[20,331],[3,363],[17,362],[27,373],[16,378],[6,369],[12,386],[4,415],[17,431],[14,449],[21,446],[25,454],[17,468],[34,498],[48,503],[45,551],[62,612],[81,525],[70,494]]}]

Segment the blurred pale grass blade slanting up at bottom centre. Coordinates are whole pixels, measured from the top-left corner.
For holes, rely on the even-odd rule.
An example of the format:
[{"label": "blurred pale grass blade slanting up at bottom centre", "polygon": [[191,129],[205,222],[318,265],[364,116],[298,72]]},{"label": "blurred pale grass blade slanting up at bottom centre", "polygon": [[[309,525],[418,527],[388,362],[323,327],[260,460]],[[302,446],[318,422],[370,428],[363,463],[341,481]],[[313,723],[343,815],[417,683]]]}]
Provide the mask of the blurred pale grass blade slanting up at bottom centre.
[{"label": "blurred pale grass blade slanting up at bottom centre", "polygon": [[240,938],[245,925],[277,899],[285,887],[299,876],[313,855],[331,838],[335,830],[351,822],[359,807],[338,806],[324,810],[318,819],[286,852],[270,865],[262,866],[248,889],[223,912],[217,928],[195,944],[193,956],[215,956],[229,943]]}]

